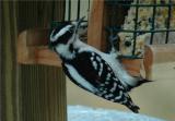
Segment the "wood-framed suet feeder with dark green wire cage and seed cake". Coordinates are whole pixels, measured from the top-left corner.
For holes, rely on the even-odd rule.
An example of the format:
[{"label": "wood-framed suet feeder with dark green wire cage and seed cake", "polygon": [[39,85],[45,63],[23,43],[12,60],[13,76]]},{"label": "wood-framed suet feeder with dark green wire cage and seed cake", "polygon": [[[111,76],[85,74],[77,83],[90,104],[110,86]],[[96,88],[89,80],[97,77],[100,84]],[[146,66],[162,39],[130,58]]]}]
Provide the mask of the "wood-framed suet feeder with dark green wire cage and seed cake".
[{"label": "wood-framed suet feeder with dark green wire cage and seed cake", "polygon": [[[106,0],[101,4],[94,1],[89,21],[89,41],[105,50],[105,28],[113,27],[120,38],[119,51],[124,66],[133,76],[141,75],[140,71],[143,70],[145,78],[151,80],[152,64],[158,62],[155,60],[174,61],[173,58],[159,55],[162,52],[174,57],[174,10],[175,3],[171,0]],[[164,13],[163,16],[160,12]]]}]

